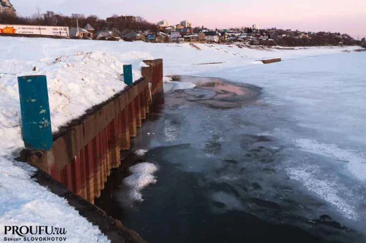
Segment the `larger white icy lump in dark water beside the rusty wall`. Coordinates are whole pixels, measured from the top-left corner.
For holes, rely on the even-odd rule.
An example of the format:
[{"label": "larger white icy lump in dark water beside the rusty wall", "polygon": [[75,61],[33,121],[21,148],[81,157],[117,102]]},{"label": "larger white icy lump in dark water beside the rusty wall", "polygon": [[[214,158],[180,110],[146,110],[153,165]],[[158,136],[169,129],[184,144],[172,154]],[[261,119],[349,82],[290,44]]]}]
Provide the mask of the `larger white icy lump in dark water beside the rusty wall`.
[{"label": "larger white icy lump in dark water beside the rusty wall", "polygon": [[126,177],[123,182],[129,187],[129,199],[131,201],[143,201],[141,190],[150,184],[156,184],[156,177],[153,175],[157,167],[151,163],[140,163],[128,169],[132,175]]}]

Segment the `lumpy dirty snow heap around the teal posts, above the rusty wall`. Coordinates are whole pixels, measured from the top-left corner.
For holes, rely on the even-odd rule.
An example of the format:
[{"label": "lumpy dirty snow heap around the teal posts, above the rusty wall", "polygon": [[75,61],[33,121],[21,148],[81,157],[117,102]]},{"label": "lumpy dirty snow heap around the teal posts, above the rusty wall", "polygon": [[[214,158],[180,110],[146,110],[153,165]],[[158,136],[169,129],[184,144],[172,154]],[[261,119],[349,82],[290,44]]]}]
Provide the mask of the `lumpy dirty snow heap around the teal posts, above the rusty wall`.
[{"label": "lumpy dirty snow heap around the teal posts, above the rusty wall", "polygon": [[[46,62],[19,61],[22,70],[15,70],[15,63],[16,61],[0,61],[3,70],[17,72],[17,75],[1,77],[4,87],[0,90],[1,94],[4,94],[1,100],[11,101],[0,104],[0,121],[5,128],[20,124],[17,76],[47,76],[52,132],[56,132],[67,121],[82,115],[86,109],[107,100],[126,87],[121,81],[123,65],[126,63],[103,52],[77,52]],[[32,71],[33,68],[36,71]],[[140,77],[141,72],[133,70],[134,80]],[[9,103],[11,107],[8,107]]]}]

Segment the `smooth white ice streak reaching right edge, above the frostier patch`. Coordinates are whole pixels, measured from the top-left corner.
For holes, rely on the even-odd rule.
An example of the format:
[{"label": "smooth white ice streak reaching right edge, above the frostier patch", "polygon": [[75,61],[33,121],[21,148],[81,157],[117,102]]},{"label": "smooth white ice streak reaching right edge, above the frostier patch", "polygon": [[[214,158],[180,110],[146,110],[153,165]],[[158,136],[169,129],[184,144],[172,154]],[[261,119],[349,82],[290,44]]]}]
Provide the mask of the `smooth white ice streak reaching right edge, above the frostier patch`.
[{"label": "smooth white ice streak reaching right edge, above the frostier patch", "polygon": [[299,139],[295,144],[304,151],[341,160],[348,171],[359,180],[366,180],[366,154],[354,150],[344,150],[335,144],[320,144],[315,140]]}]

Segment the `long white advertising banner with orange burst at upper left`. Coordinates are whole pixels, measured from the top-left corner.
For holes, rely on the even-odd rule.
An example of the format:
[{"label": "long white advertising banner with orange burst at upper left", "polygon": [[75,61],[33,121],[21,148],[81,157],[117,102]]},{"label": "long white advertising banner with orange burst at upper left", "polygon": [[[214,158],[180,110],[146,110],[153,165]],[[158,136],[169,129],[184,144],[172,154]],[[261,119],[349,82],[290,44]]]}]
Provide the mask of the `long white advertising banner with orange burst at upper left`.
[{"label": "long white advertising banner with orange burst at upper left", "polygon": [[46,35],[46,36],[68,36],[68,27],[63,26],[33,26],[33,25],[4,25],[0,24],[0,33],[25,34],[25,35]]}]

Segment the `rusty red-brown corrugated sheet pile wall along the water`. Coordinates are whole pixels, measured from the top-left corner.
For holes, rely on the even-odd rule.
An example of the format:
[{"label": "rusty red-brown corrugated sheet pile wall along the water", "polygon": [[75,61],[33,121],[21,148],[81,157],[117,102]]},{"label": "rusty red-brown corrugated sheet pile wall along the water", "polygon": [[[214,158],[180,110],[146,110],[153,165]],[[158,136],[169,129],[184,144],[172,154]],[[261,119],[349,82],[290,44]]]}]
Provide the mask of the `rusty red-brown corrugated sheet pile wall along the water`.
[{"label": "rusty red-brown corrugated sheet pile wall along the water", "polygon": [[144,61],[143,80],[113,99],[86,111],[54,136],[53,147],[28,162],[50,174],[90,202],[99,197],[112,168],[121,164],[120,150],[130,149],[130,137],[149,112],[149,85],[154,94],[162,87],[162,59]]}]

